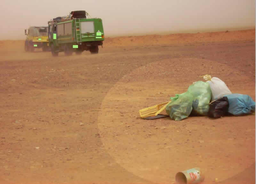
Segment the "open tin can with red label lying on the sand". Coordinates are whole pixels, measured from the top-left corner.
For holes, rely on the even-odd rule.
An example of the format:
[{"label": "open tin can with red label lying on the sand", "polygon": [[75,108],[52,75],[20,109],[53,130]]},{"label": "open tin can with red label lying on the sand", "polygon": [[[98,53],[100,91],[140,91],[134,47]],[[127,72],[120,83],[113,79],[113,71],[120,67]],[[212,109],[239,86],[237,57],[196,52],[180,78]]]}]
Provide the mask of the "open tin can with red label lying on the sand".
[{"label": "open tin can with red label lying on the sand", "polygon": [[202,173],[200,168],[195,167],[195,168],[177,173],[175,176],[175,180],[177,184],[200,183],[204,181],[204,173]]}]

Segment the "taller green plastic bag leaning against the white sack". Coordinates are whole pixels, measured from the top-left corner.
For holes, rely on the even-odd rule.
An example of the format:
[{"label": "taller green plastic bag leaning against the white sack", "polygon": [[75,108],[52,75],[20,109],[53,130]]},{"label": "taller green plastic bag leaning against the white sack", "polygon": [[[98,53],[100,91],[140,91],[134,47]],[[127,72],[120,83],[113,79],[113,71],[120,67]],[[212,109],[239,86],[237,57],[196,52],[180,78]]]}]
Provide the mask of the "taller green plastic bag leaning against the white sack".
[{"label": "taller green plastic bag leaning against the white sack", "polygon": [[212,98],[210,84],[203,81],[194,82],[187,92],[194,96],[191,115],[207,116]]}]

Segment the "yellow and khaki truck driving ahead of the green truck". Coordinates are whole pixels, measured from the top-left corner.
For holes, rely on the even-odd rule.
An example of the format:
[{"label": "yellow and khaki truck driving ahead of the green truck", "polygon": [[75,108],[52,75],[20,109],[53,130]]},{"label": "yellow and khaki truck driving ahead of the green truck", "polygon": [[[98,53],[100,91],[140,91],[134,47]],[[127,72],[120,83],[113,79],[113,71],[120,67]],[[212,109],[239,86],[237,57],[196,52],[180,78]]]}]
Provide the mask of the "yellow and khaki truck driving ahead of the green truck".
[{"label": "yellow and khaki truck driving ahead of the green truck", "polygon": [[25,41],[26,52],[33,52],[36,48],[42,48],[44,52],[50,51],[47,26],[31,26],[25,29],[25,35],[27,35]]}]

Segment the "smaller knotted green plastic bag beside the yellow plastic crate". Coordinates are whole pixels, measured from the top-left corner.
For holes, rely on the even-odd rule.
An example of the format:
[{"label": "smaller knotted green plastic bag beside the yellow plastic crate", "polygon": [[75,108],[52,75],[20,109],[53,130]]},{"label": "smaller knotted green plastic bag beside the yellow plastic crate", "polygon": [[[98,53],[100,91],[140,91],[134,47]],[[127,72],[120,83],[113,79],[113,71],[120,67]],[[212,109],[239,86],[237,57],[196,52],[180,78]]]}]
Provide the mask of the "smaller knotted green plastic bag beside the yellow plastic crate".
[{"label": "smaller knotted green plastic bag beside the yellow plastic crate", "polygon": [[192,111],[193,99],[194,96],[188,92],[176,94],[175,97],[171,97],[172,102],[166,106],[166,113],[175,121],[187,118]]}]

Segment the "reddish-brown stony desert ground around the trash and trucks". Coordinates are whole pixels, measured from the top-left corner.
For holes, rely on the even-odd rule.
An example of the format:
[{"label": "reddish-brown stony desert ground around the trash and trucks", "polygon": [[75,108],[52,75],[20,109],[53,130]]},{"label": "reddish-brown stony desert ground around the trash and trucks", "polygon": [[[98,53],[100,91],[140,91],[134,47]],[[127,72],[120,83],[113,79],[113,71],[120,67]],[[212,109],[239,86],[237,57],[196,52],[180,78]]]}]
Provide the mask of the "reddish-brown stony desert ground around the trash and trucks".
[{"label": "reddish-brown stony desert ground around the trash and trucks", "polygon": [[[255,101],[255,30],[106,38],[66,57],[0,41],[0,183],[255,183],[255,115],[143,120],[199,76]],[[215,182],[216,183],[216,182]]]}]

